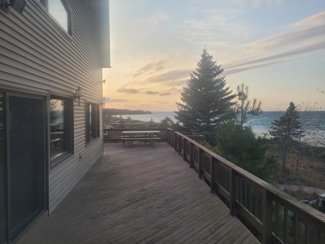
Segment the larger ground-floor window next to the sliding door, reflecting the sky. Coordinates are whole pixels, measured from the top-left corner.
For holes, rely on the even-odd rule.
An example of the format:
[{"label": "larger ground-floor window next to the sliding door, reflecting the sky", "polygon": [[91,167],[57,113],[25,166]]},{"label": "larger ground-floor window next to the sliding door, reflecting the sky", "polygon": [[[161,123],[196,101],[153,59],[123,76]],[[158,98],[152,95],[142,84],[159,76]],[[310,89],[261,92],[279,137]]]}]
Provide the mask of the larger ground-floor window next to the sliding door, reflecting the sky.
[{"label": "larger ground-floor window next to the sliding door, reflecting the sky", "polygon": [[50,100],[51,168],[73,153],[72,104],[67,98]]}]

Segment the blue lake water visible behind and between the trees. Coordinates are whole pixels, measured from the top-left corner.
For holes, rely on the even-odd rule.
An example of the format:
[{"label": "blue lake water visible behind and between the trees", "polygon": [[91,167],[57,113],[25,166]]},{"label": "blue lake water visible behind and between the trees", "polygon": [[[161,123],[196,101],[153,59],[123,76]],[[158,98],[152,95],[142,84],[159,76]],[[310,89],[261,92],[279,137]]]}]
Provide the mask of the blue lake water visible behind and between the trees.
[{"label": "blue lake water visible behind and between the trees", "polygon": [[[255,135],[269,135],[269,130],[271,128],[271,123],[274,122],[275,119],[279,119],[281,115],[283,115],[284,112],[280,111],[266,111],[261,114],[259,114],[256,117],[253,117],[248,121],[248,123],[245,124],[245,126],[250,126],[255,133]],[[175,123],[175,113],[174,112],[152,112],[152,114],[128,114],[128,115],[117,115],[122,116],[123,118],[131,117],[132,119],[138,119],[141,121],[150,121],[151,118],[155,123],[160,123],[160,121],[166,117],[171,118]],[[315,125],[319,119],[320,116],[325,116],[325,112],[319,112],[319,111],[313,111],[308,112],[308,115],[305,114],[305,112],[301,112],[301,118],[307,119],[306,129],[308,130],[314,130]],[[316,133],[320,133],[323,136],[324,131],[318,131]],[[307,139],[307,138],[306,138]]]}]

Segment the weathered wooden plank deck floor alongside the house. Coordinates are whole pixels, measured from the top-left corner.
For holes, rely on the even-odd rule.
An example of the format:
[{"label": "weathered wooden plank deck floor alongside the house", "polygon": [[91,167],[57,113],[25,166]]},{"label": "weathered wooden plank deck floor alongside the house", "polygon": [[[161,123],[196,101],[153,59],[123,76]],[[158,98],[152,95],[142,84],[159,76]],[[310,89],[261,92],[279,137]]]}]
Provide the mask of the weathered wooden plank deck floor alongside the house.
[{"label": "weathered wooden plank deck floor alongside the house", "polygon": [[167,143],[104,151],[26,243],[259,243]]}]

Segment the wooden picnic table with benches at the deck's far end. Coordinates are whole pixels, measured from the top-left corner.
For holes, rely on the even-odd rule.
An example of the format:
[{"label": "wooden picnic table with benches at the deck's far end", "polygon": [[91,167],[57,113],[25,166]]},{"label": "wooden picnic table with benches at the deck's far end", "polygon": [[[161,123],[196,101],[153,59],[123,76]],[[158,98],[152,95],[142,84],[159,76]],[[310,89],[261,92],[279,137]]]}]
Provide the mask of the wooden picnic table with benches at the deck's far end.
[{"label": "wooden picnic table with benches at the deck's far end", "polygon": [[122,131],[121,139],[125,141],[126,147],[131,146],[133,141],[150,141],[150,144],[156,146],[156,140],[161,140],[156,134],[160,131]]}]

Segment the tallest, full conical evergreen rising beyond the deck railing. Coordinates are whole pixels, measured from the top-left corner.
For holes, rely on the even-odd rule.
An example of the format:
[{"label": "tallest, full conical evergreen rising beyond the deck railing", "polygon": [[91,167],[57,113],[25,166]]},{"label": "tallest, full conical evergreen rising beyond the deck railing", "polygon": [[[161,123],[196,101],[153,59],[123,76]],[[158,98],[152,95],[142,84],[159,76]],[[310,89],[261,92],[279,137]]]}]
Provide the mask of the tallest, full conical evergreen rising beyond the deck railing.
[{"label": "tallest, full conical evergreen rising beyond the deck railing", "polygon": [[193,132],[214,132],[216,125],[224,120],[236,95],[226,87],[221,76],[223,69],[207,49],[203,49],[196,71],[190,73],[187,86],[181,91],[183,103],[176,103],[175,118],[183,127]]}]

